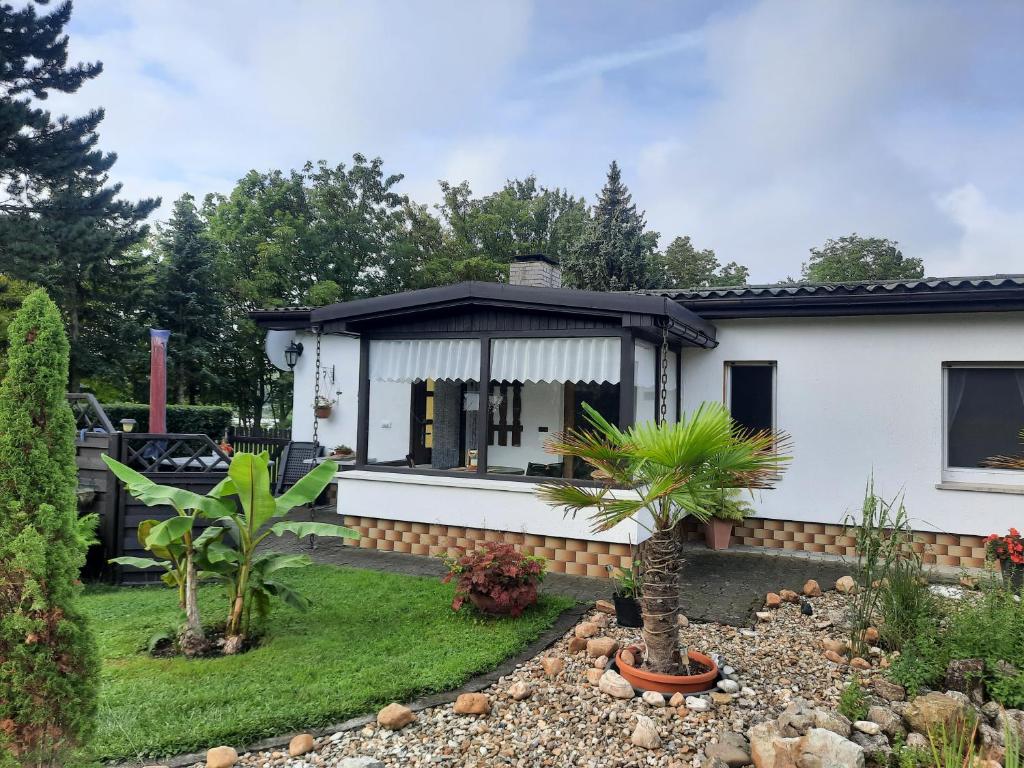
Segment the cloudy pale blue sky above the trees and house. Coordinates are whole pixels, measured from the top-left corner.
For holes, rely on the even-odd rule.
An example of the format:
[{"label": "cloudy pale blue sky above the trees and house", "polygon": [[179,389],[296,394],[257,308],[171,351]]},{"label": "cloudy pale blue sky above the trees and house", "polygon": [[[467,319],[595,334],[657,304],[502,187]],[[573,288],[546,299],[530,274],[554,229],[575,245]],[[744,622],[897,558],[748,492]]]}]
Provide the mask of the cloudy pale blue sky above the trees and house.
[{"label": "cloudy pale blue sky above the trees and house", "polygon": [[929,275],[1024,272],[1024,3],[75,0],[72,56],[135,198],[346,162],[593,201],[616,160],[662,246],[753,282],[851,232]]}]

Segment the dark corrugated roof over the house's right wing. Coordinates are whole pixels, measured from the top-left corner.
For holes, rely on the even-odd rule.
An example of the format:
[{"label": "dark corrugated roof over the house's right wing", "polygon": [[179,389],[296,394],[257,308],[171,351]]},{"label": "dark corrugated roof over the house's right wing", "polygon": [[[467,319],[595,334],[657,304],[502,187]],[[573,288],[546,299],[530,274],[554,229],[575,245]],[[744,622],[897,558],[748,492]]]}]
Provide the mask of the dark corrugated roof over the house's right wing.
[{"label": "dark corrugated roof over the house's right wing", "polygon": [[635,292],[671,298],[708,319],[1024,309],[1024,274],[796,283]]}]

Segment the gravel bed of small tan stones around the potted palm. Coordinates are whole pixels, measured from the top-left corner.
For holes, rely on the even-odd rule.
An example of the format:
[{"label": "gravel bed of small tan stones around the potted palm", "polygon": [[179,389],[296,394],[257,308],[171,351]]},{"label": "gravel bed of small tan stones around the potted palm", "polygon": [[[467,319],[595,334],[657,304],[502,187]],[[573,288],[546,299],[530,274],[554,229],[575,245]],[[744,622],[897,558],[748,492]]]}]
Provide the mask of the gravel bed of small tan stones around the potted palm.
[{"label": "gravel bed of small tan stones around the potted palm", "polygon": [[[569,632],[540,656],[484,689],[490,699],[489,715],[456,715],[452,705],[435,707],[418,713],[416,722],[398,731],[374,723],[317,739],[314,751],[302,757],[290,758],[286,752],[251,753],[243,755],[238,765],[347,768],[354,765],[346,764],[347,758],[364,756],[389,768],[700,766],[709,762],[705,748],[720,733],[745,732],[754,724],[777,717],[795,698],[830,708],[838,705],[849,669],[825,659],[821,640],[842,634],[824,625],[830,616],[842,615],[847,599],[826,592],[810,601],[814,607],[810,616],[801,613],[799,604],[783,603],[765,614],[767,621],[750,629],[717,624],[681,627],[681,641],[693,650],[721,654],[741,688],[728,703],[714,703],[707,712],[652,707],[639,696],[624,700],[601,693],[587,680],[593,659],[586,651],[568,652],[573,637]],[[639,638],[639,630],[618,628],[613,617],[599,634],[621,644]],[[554,678],[542,668],[546,656],[564,663]],[[509,694],[517,681],[532,689],[521,701]],[[653,720],[659,748],[646,750],[631,743],[638,715]]]}]

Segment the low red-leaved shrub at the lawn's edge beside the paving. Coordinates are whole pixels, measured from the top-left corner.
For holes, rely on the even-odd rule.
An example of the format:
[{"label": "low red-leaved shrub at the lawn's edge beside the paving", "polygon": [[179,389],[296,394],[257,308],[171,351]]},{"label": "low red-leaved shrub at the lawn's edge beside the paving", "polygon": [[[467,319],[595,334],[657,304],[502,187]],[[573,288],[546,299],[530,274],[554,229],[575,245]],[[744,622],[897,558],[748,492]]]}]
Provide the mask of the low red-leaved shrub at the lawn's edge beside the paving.
[{"label": "low red-leaved shrub at the lawn's edge beside the paving", "polygon": [[498,542],[486,542],[460,557],[440,557],[449,568],[442,581],[456,583],[452,610],[459,610],[469,599],[493,603],[490,612],[517,616],[537,602],[537,585],[544,579],[543,557],[524,555],[511,544]]}]

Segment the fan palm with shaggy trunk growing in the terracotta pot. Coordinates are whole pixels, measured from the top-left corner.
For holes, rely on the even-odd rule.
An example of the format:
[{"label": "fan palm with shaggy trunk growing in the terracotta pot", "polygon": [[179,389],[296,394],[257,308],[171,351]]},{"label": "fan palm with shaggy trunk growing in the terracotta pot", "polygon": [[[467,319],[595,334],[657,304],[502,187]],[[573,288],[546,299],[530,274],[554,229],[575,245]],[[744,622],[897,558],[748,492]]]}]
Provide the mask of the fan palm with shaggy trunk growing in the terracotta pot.
[{"label": "fan palm with shaggy trunk growing in the terracotta pot", "polygon": [[[790,461],[788,436],[739,430],[721,403],[706,402],[680,421],[645,422],[626,430],[584,404],[589,429],[552,437],[549,452],[595,468],[599,487],[551,481],[538,490],[573,517],[590,514],[595,531],[629,519],[650,532],[641,548],[645,667],[679,674],[679,568],[676,525],[687,515],[707,521],[722,488],[767,488]],[[623,489],[627,489],[623,493]],[[629,493],[629,490],[634,493]]]}]

